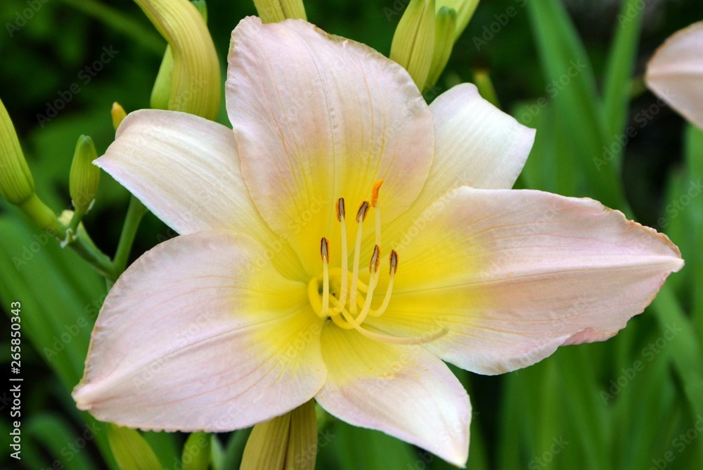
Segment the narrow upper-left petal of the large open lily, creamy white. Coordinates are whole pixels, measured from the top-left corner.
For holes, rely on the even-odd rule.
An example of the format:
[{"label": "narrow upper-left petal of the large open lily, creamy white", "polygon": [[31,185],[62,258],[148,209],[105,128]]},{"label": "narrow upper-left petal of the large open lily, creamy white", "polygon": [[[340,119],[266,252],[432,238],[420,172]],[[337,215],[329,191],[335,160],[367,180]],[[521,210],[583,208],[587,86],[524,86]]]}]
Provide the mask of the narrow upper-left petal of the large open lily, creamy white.
[{"label": "narrow upper-left petal of the large open lily, creamy white", "polygon": [[295,254],[254,207],[231,129],[187,113],[134,111],[95,164],[179,234],[238,231],[275,253],[268,258],[288,277],[301,272]]}]

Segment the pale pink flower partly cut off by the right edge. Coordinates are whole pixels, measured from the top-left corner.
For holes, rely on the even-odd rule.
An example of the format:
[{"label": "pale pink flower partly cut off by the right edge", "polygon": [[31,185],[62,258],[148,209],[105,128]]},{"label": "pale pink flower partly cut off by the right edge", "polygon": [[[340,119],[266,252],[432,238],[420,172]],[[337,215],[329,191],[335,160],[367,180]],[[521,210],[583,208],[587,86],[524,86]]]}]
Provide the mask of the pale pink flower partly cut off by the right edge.
[{"label": "pale pink flower partly cut off by the right edge", "polygon": [[647,87],[703,129],[703,21],[666,39],[647,64]]}]

